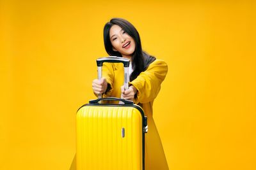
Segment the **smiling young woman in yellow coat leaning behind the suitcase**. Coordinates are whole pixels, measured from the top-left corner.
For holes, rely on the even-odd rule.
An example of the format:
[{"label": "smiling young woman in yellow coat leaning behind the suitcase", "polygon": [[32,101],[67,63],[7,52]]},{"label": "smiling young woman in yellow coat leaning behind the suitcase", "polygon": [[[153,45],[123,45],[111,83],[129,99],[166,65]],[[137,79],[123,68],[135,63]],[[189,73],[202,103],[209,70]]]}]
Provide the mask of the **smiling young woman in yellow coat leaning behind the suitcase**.
[{"label": "smiling young woman in yellow coat leaning behind the suitcase", "polygon": [[93,80],[92,89],[104,97],[121,97],[139,104],[148,117],[148,133],[145,135],[145,169],[165,170],[168,164],[161,139],[152,118],[152,105],[168,67],[166,62],[143,52],[140,35],[127,20],[113,18],[104,26],[104,45],[109,55],[130,60],[129,89],[124,90],[122,64],[108,63],[102,67],[102,79]]}]

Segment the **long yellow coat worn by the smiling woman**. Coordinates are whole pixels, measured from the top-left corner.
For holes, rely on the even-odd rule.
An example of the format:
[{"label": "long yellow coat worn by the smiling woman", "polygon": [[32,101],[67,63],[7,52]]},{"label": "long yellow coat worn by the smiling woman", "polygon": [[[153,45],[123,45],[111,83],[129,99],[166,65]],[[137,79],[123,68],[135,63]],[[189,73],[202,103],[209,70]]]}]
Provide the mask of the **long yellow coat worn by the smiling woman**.
[{"label": "long yellow coat worn by the smiling woman", "polygon": [[[168,169],[161,139],[152,118],[153,102],[161,89],[161,83],[168,71],[166,62],[156,59],[146,71],[129,82],[138,90],[134,103],[140,103],[148,117],[148,133],[145,134],[145,169]],[[111,89],[103,97],[120,97],[121,86],[124,85],[124,66],[120,63],[106,63],[102,67],[102,77],[106,78]]]}]

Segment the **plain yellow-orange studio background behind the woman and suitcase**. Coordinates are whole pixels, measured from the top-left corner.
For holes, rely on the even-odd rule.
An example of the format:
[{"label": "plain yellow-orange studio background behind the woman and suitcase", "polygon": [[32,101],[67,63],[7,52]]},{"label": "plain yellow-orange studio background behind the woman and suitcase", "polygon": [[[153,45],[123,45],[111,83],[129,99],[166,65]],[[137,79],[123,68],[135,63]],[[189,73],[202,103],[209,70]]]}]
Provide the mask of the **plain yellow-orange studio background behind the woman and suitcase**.
[{"label": "plain yellow-orange studio background behind the woman and suitcase", "polygon": [[0,169],[69,168],[112,17],[131,21],[143,49],[168,63],[154,119],[170,169],[256,169],[255,1],[0,6]]}]

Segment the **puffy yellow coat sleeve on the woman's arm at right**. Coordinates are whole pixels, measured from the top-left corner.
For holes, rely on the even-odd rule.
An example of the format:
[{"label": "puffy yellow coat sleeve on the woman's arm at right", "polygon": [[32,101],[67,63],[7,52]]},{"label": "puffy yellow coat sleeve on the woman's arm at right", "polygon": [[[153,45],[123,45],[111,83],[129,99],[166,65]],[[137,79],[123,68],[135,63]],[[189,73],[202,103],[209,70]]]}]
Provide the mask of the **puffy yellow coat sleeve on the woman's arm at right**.
[{"label": "puffy yellow coat sleeve on the woman's arm at right", "polygon": [[134,103],[153,101],[161,89],[161,83],[167,71],[168,66],[166,62],[155,60],[148,66],[146,71],[141,72],[135,80],[131,81],[130,84],[138,90]]}]

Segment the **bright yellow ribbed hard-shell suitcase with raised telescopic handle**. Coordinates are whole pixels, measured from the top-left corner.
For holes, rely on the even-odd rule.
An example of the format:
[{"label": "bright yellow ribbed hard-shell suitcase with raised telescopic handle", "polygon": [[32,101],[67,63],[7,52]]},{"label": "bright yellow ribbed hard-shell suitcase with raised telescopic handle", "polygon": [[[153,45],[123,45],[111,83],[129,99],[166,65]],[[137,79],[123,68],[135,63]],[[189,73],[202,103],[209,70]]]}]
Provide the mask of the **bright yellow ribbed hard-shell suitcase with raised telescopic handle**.
[{"label": "bright yellow ribbed hard-shell suitcase with raised telescopic handle", "polygon": [[[129,60],[121,57],[97,59],[98,78],[104,62],[124,64],[124,84],[128,88]],[[102,102],[104,101],[104,102]],[[105,101],[120,101],[108,104]],[[84,104],[77,111],[77,170],[141,170],[145,169],[145,133],[147,117],[140,106],[115,97]]]}]

